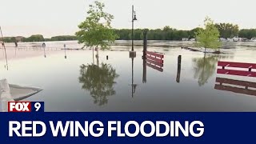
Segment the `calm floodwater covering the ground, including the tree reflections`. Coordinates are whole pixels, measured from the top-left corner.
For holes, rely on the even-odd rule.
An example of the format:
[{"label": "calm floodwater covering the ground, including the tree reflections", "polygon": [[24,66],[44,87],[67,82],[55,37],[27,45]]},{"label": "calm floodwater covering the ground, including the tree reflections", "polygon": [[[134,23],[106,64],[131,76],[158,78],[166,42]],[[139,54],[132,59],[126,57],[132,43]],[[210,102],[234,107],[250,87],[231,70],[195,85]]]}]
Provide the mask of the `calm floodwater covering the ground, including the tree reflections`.
[{"label": "calm floodwater covering the ground, including the tree reflections", "polygon": [[181,49],[192,42],[149,41],[149,51],[164,54],[158,68],[142,59],[141,41],[135,42],[136,58],[129,58],[128,41],[99,50],[98,58],[92,50],[66,50],[65,58],[64,44],[82,47],[46,42],[43,50],[37,42],[19,43],[15,50],[6,44],[8,70],[0,54],[0,79],[43,89],[22,101],[45,102],[46,111],[256,111],[256,78],[217,74],[218,61],[256,63],[256,43],[225,43],[224,54],[216,55]]}]

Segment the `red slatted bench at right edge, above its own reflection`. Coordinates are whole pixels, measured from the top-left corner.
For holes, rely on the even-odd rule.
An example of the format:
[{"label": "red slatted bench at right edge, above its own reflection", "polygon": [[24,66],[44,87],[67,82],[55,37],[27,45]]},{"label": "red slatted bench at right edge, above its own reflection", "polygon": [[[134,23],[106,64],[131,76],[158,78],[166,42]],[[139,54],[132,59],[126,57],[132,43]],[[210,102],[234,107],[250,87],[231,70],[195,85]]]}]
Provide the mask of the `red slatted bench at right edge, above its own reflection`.
[{"label": "red slatted bench at right edge, above its own reflection", "polygon": [[[217,74],[231,74],[246,77],[256,77],[256,64],[254,63],[242,63],[242,62],[218,62]],[[229,68],[244,68],[247,70],[230,70]]]}]

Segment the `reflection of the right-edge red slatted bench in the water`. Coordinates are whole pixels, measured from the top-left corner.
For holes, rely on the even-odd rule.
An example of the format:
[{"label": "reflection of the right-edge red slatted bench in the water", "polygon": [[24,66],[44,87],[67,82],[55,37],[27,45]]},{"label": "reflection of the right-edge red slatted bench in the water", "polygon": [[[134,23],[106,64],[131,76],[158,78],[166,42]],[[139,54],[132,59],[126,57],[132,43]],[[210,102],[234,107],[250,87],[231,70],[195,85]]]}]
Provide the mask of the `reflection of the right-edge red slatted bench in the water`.
[{"label": "reflection of the right-edge red slatted bench in the water", "polygon": [[[250,90],[251,88],[256,88],[256,82],[246,82],[246,81],[238,81],[228,78],[216,78],[216,82],[219,84],[215,84],[214,89],[216,90],[225,90],[231,91],[238,94],[248,94],[256,96],[256,90]],[[223,85],[228,84],[229,86]],[[230,86],[232,85],[232,86]],[[236,87],[240,86],[240,87]],[[245,88],[241,88],[241,86],[245,86]]]}]

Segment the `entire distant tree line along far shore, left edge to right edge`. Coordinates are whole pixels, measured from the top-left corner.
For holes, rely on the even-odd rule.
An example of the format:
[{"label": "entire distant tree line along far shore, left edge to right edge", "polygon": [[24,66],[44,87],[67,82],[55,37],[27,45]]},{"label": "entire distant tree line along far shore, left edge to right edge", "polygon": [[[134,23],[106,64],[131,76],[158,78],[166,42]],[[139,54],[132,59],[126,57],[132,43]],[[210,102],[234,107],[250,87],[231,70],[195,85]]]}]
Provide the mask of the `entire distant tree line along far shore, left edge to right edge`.
[{"label": "entire distant tree line along far shore, left edge to right edge", "polygon": [[[238,25],[231,23],[216,23],[220,38],[234,38],[238,36],[240,38],[254,38],[256,37],[256,29],[242,29],[239,30]],[[175,40],[180,41],[182,38],[195,38],[196,32],[202,28],[194,28],[193,30],[177,30],[170,26],[165,26],[162,29],[148,30],[147,38],[149,40]],[[143,39],[143,29],[134,30],[134,40]],[[130,29],[115,29],[114,32],[118,34],[118,40],[131,40]],[[4,42],[47,42],[47,41],[72,41],[78,40],[74,35],[60,35],[52,38],[44,38],[41,34],[31,35],[29,38],[24,37],[6,37],[3,38]],[[2,38],[0,38],[2,41]]]}]

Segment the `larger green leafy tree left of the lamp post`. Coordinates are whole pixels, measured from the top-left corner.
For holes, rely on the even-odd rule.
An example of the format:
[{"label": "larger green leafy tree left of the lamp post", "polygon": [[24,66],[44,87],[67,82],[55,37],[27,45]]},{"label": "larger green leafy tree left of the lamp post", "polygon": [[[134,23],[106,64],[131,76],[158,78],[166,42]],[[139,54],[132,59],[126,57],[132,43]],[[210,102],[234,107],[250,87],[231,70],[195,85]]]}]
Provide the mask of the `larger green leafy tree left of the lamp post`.
[{"label": "larger green leafy tree left of the lamp post", "polygon": [[76,32],[76,36],[78,42],[84,44],[83,47],[110,49],[109,43],[118,38],[110,26],[114,16],[106,13],[104,7],[103,3],[94,2],[94,5],[90,5],[86,20],[78,25],[80,30]]}]

